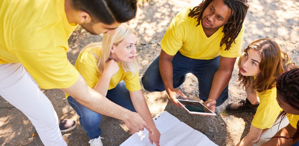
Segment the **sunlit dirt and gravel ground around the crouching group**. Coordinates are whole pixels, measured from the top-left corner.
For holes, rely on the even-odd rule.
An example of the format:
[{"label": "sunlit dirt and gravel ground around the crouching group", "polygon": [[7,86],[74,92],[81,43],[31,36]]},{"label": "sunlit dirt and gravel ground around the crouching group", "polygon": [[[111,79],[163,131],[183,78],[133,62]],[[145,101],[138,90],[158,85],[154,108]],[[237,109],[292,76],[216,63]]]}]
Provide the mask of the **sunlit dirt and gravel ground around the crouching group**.
[{"label": "sunlit dirt and gravel ground around the crouching group", "polygon": [[[138,32],[137,60],[140,76],[150,63],[160,54],[160,41],[167,27],[180,10],[196,6],[196,0],[150,0],[140,2],[135,19],[128,24]],[[274,39],[299,64],[299,0],[250,0],[250,8],[245,19],[245,35],[242,49],[250,42],[269,37]],[[101,35],[94,36],[81,27],[74,31],[69,39],[68,59],[75,63],[79,51],[90,42],[101,41]],[[229,83],[229,98],[217,107],[218,115],[202,117],[188,114],[184,109],[176,108],[167,99],[166,92],[149,93],[144,91],[152,116],[166,110],[179,120],[207,135],[217,145],[236,145],[249,131],[252,113],[232,114],[225,112],[225,107],[238,99],[245,99],[246,94],[237,85],[238,67]],[[198,81],[193,74],[187,74],[183,92],[190,100],[199,100]],[[64,93],[59,89],[43,90],[52,102],[59,118],[78,121],[78,115],[69,106]],[[103,116],[100,127],[104,145],[120,145],[130,132],[120,120]],[[36,131],[28,118],[3,98],[0,98],[0,145],[42,145]],[[80,124],[72,131],[62,132],[68,145],[89,145],[88,137]]]}]

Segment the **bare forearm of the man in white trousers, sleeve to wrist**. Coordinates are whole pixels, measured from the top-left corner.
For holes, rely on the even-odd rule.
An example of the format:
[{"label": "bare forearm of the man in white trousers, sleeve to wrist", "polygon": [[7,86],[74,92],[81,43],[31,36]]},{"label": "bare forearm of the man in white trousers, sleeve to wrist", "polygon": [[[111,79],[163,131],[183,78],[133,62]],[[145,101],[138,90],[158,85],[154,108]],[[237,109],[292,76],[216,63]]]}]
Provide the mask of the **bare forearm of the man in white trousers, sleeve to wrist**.
[{"label": "bare forearm of the man in white trousers, sleeve to wrist", "polygon": [[78,103],[94,112],[127,121],[130,111],[109,101],[105,96],[86,86],[85,80],[80,75],[77,82],[69,88],[61,89],[71,95]]}]

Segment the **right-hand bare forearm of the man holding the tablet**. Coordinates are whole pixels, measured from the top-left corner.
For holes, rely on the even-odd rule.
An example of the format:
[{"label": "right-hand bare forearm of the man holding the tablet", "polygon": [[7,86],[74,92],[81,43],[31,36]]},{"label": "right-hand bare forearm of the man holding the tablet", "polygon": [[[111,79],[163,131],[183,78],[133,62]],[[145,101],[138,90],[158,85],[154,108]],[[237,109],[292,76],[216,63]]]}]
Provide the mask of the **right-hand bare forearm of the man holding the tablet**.
[{"label": "right-hand bare forearm of the man holding the tablet", "polygon": [[217,70],[214,74],[212,86],[209,94],[209,99],[214,99],[215,101],[218,99],[221,92],[228,85],[229,80],[231,79],[231,70]]}]

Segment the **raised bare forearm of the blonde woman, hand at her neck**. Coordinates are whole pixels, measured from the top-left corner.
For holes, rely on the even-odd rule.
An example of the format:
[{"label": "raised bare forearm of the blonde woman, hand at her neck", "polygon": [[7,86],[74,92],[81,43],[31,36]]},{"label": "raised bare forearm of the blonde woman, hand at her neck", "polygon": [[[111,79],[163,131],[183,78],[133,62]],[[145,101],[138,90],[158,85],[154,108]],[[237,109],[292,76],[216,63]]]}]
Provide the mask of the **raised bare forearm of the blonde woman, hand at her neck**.
[{"label": "raised bare forearm of the blonde woman, hand at her neck", "polygon": [[103,72],[100,79],[97,81],[97,84],[92,89],[101,93],[103,96],[106,96],[108,92],[110,80],[111,80],[111,75],[106,74],[106,72]]}]

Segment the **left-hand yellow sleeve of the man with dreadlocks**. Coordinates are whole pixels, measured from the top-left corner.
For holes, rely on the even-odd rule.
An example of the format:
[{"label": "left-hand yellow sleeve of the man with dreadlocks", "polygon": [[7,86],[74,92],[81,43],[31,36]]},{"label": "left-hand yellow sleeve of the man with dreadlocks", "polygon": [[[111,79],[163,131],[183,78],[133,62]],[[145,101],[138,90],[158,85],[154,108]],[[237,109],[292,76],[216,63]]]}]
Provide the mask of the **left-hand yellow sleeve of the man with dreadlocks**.
[{"label": "left-hand yellow sleeve of the man with dreadlocks", "polygon": [[168,55],[175,55],[183,45],[184,28],[183,25],[175,25],[175,18],[170,22],[170,25],[161,40],[161,48]]}]

